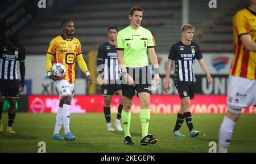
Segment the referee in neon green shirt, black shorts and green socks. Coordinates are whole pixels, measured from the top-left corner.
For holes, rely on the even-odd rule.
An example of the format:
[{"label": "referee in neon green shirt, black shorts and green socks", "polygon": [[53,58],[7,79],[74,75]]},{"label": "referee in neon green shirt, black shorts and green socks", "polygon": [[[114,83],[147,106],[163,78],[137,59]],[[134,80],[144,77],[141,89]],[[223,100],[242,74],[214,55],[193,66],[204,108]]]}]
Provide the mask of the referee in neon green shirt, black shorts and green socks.
[{"label": "referee in neon green shirt, black shorts and green socks", "polygon": [[131,8],[130,25],[117,36],[117,58],[122,70],[123,111],[122,123],[126,145],[134,145],[130,134],[131,105],[135,90],[141,102],[142,139],[141,145],[155,144],[158,140],[148,134],[150,122],[151,72],[148,68],[147,50],[155,71],[155,85],[159,85],[159,66],[155,54],[155,40],[151,32],[141,27],[143,10],[138,6]]}]

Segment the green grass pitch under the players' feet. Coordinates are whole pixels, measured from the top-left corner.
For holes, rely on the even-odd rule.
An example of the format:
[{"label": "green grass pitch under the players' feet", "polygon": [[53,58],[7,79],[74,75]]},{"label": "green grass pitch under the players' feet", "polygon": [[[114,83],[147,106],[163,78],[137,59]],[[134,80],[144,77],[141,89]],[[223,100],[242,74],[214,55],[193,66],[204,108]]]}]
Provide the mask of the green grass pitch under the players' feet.
[{"label": "green grass pitch under the players' feet", "polygon": [[[4,130],[7,114],[2,114]],[[123,144],[123,132],[106,131],[104,114],[72,114],[71,132],[75,141],[51,140],[55,126],[55,114],[18,113],[14,122],[15,135],[0,133],[0,152],[38,152],[39,141],[46,143],[46,152],[208,152],[209,142],[218,141],[218,131],[224,115],[195,114],[193,123],[201,132],[195,138],[188,137],[184,123],[181,133],[187,137],[171,135],[176,114],[151,114],[150,133],[158,138],[155,145],[141,146],[139,115],[131,118],[131,136],[135,145]],[[114,122],[115,114],[112,115]],[[63,136],[63,128],[60,135]],[[205,134],[205,136],[204,136]],[[244,114],[234,128],[229,152],[256,152],[256,115]]]}]

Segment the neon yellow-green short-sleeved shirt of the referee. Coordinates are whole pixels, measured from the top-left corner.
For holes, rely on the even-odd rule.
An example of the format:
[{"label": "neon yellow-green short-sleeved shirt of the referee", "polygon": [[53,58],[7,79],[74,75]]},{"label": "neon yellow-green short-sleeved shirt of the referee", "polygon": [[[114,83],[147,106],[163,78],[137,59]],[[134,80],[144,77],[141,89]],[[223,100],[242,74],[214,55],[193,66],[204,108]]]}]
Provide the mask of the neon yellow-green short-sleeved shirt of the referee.
[{"label": "neon yellow-green short-sleeved shirt of the referee", "polygon": [[125,67],[148,66],[147,49],[154,47],[154,37],[146,28],[133,29],[129,25],[118,32],[116,48],[123,50]]}]

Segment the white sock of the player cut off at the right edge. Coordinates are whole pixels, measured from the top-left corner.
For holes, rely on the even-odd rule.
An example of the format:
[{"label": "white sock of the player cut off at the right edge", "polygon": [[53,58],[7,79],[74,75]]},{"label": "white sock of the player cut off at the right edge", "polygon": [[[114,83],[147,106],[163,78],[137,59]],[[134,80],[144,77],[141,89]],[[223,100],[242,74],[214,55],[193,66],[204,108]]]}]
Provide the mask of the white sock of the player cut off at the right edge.
[{"label": "white sock of the player cut off at the right edge", "polygon": [[228,148],[230,140],[232,138],[233,129],[236,122],[224,116],[223,122],[220,127],[218,134],[218,147]]}]

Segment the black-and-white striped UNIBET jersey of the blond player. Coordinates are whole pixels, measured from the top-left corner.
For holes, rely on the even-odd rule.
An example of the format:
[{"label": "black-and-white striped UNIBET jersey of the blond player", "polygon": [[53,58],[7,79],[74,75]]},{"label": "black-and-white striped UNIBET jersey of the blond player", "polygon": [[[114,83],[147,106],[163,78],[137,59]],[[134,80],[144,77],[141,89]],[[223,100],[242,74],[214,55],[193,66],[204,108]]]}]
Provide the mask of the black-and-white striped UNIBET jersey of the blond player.
[{"label": "black-and-white striped UNIBET jersey of the blond player", "polygon": [[175,81],[195,81],[193,64],[203,58],[199,45],[191,42],[190,45],[184,45],[179,41],[172,45],[168,59],[175,61]]}]

